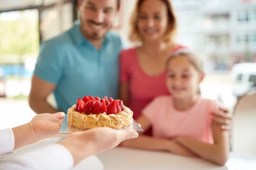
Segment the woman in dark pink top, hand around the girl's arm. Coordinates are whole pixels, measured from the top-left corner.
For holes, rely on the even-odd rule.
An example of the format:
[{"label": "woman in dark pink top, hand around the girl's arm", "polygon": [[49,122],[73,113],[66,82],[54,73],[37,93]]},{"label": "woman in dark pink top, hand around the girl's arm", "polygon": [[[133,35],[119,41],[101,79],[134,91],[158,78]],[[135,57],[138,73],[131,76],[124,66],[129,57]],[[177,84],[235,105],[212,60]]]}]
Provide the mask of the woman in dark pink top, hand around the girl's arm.
[{"label": "woman in dark pink top, hand around the girl's arm", "polygon": [[[119,99],[131,108],[136,120],[154,97],[169,94],[165,64],[171,53],[185,48],[175,42],[177,21],[169,0],[138,0],[131,18],[132,42],[141,46],[120,54]],[[215,112],[223,124],[232,116]],[[215,117],[214,117],[215,118]],[[151,136],[151,129],[145,131]]]}]

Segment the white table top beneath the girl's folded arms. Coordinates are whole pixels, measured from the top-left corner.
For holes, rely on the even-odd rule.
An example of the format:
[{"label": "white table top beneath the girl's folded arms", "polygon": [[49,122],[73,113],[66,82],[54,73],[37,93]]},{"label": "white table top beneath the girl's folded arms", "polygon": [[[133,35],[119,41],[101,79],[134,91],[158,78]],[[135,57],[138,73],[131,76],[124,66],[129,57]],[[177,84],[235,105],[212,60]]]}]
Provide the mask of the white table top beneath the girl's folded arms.
[{"label": "white table top beneath the girl's folded arms", "polygon": [[[30,144],[1,157],[0,160],[12,159],[24,152],[59,140],[61,138],[52,138]],[[81,161],[73,170],[102,170],[102,164],[105,166],[104,170],[256,170],[256,156],[235,153],[230,154],[230,159],[223,167],[196,158],[122,147],[116,147],[97,156],[98,158],[92,156]]]}]

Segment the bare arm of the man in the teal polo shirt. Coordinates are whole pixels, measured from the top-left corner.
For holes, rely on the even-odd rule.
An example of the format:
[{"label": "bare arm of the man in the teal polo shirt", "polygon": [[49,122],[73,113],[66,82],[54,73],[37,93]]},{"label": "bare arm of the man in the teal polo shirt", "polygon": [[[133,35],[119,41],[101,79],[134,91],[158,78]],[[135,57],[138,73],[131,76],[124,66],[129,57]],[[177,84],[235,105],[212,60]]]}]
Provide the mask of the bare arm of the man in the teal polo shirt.
[{"label": "bare arm of the man in the teal polo shirt", "polygon": [[58,110],[47,103],[47,97],[55,89],[56,85],[46,82],[33,75],[31,91],[29,94],[29,106],[35,113],[56,113]]}]

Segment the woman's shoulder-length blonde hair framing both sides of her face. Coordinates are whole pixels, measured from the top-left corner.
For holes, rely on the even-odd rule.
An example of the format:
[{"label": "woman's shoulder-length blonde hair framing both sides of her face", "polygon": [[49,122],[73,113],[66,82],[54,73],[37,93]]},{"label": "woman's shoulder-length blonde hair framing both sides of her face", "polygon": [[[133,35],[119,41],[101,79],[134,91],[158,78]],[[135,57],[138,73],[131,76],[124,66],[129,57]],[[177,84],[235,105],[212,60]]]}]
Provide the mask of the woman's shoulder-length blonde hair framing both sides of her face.
[{"label": "woman's shoulder-length blonde hair framing both sides of her face", "polygon": [[[134,12],[132,13],[132,16],[131,16],[131,21],[130,21],[131,32],[129,36],[129,40],[131,40],[131,42],[142,41],[142,37],[138,30],[138,14],[139,14],[141,4],[144,1],[145,0],[137,0]],[[168,44],[174,45],[175,36],[177,33],[177,19],[176,19],[170,0],[161,0],[161,1],[166,4],[167,13],[168,13],[168,26],[167,26],[166,33],[163,37],[163,41]]]}]

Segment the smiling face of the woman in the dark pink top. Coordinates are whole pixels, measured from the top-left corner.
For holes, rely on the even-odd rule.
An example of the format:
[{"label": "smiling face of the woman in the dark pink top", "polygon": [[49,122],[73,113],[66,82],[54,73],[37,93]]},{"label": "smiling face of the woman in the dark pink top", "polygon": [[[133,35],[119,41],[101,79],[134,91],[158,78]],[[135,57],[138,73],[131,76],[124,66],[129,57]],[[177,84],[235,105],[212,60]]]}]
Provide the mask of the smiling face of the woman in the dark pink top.
[{"label": "smiling face of the woman in the dark pink top", "polygon": [[168,12],[161,0],[145,0],[139,9],[138,30],[143,41],[163,38],[168,27]]}]

